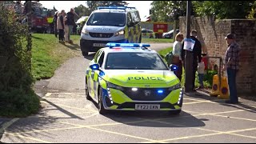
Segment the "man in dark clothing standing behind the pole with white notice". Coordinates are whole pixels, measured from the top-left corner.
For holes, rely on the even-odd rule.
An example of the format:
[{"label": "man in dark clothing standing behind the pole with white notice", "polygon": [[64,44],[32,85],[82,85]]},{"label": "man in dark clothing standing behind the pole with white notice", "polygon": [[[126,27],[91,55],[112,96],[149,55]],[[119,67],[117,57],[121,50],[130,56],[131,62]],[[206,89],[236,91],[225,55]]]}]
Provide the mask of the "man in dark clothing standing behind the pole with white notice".
[{"label": "man in dark clothing standing behind the pole with white notice", "polygon": [[[198,63],[202,61],[202,45],[201,42],[198,41],[197,38],[198,32],[196,30],[192,30],[190,38],[195,41],[194,48],[192,51],[193,54],[193,61],[192,61],[192,90],[194,89],[194,81],[195,81],[195,73],[198,70]],[[184,42],[182,42],[182,63],[185,69],[185,54],[186,51],[183,50],[184,48]],[[186,71],[186,70],[185,70]]]}]

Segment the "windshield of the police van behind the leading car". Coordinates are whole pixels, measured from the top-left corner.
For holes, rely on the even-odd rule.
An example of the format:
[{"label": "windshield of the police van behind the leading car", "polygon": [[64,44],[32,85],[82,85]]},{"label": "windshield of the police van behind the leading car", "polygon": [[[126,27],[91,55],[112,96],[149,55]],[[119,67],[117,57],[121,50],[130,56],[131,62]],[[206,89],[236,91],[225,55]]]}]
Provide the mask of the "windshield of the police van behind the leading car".
[{"label": "windshield of the police van behind the leading car", "polygon": [[87,26],[125,26],[126,14],[94,13],[90,16]]}]

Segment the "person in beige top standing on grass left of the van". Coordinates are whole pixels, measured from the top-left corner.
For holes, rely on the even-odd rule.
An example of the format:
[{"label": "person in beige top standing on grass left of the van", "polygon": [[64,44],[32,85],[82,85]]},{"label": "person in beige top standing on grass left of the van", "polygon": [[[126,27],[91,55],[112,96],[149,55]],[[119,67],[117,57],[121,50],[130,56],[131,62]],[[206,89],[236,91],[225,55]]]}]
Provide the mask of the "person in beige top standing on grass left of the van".
[{"label": "person in beige top standing on grass left of the van", "polygon": [[59,42],[64,42],[64,21],[63,21],[64,13],[65,13],[65,10],[62,10],[61,13],[58,13],[57,28],[58,28],[58,40],[59,40]]}]

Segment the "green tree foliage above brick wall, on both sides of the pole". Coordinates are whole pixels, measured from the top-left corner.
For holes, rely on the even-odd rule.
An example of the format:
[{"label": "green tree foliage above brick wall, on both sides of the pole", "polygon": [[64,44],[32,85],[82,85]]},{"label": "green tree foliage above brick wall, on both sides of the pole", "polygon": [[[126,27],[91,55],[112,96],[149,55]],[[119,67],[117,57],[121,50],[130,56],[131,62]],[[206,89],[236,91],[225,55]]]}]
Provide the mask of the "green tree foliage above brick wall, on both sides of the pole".
[{"label": "green tree foliage above brick wall, on both sides of the pole", "polygon": [[[192,1],[194,16],[215,15],[216,18],[255,18],[255,1]],[[152,21],[173,22],[186,15],[186,1],[153,1]]]}]

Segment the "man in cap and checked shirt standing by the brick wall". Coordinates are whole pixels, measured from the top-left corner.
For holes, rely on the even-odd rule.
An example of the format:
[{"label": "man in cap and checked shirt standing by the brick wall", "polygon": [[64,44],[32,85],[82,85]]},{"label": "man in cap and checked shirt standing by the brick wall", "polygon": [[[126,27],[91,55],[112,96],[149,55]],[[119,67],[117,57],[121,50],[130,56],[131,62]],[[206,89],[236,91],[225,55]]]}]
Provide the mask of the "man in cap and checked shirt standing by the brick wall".
[{"label": "man in cap and checked shirt standing by the brick wall", "polygon": [[237,42],[235,42],[234,34],[226,35],[226,43],[228,44],[228,48],[226,50],[225,58],[224,58],[224,66],[222,68],[223,71],[226,71],[228,78],[228,85],[230,89],[230,100],[227,100],[226,103],[236,104],[238,103],[238,95],[237,95],[237,86],[236,86],[236,75],[238,72],[238,54],[240,51],[240,46]]}]

